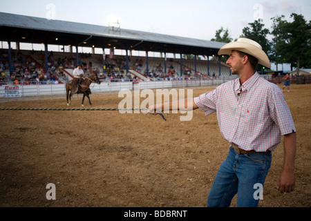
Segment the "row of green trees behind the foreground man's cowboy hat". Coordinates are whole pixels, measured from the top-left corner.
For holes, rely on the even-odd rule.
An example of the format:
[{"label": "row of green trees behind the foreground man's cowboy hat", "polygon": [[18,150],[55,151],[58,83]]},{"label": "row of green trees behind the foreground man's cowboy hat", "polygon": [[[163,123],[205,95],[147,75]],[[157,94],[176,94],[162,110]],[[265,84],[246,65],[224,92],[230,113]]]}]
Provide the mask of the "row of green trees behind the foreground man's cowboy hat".
[{"label": "row of green trees behind the foreground man's cowboy hat", "polygon": [[[311,23],[306,21],[303,15],[292,13],[292,21],[286,21],[282,15],[272,17],[271,29],[265,28],[262,19],[248,23],[243,28],[240,37],[246,37],[261,44],[270,61],[275,64],[290,64],[291,70],[300,68],[311,68]],[[267,39],[267,35],[272,35],[272,40]],[[229,35],[229,30],[221,27],[216,31],[215,38],[211,41],[229,43],[233,39]],[[236,39],[235,39],[236,41]],[[226,58],[222,58],[225,61]],[[263,66],[257,66],[257,70],[262,70]]]}]

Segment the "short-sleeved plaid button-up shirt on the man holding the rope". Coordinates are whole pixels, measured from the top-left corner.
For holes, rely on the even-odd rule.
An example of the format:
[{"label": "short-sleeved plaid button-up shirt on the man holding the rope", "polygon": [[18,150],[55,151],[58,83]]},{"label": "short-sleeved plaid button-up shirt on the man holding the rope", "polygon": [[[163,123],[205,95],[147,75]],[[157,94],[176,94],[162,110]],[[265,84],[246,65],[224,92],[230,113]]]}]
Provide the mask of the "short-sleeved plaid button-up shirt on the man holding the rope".
[{"label": "short-sleeved plaid button-up shirt on the man holding the rope", "polygon": [[205,115],[216,112],[225,140],[246,151],[274,151],[281,135],[296,132],[281,88],[258,73],[242,85],[239,79],[221,84],[194,102]]}]

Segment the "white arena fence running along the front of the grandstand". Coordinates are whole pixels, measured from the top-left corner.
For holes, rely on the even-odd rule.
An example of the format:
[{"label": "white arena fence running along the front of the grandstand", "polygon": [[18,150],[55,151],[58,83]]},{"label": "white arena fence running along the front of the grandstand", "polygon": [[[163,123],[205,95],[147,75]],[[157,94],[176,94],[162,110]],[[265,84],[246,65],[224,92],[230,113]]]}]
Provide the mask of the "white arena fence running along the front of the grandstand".
[{"label": "white arena fence running along the front of the grandstand", "polygon": [[[274,84],[283,84],[283,77],[262,76]],[[200,86],[217,86],[227,81],[235,79],[236,76],[223,77],[218,79],[183,79],[183,80],[161,80],[161,81],[140,81],[133,84],[131,81],[101,82],[101,84],[91,84],[92,93],[111,93],[122,89],[156,89],[156,88],[187,88]],[[292,77],[292,84],[310,84],[311,76]],[[1,82],[0,101],[8,99],[19,99],[26,97],[46,97],[46,96],[66,96],[65,84],[12,84]]]}]

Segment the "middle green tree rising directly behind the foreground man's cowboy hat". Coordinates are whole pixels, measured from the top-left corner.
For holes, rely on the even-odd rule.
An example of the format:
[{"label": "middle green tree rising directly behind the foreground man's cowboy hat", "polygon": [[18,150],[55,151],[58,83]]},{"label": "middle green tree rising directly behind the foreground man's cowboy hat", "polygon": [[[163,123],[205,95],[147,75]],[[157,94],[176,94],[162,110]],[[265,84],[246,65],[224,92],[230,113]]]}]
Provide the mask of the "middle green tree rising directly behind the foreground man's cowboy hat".
[{"label": "middle green tree rising directly behind the foreground man's cowboy hat", "polygon": [[[258,19],[255,20],[254,23],[248,23],[249,27],[243,28],[242,32],[243,34],[240,37],[246,37],[248,39],[252,39],[258,44],[261,45],[263,48],[263,51],[266,52],[268,57],[270,57],[271,54],[271,42],[267,39],[267,35],[270,33],[269,29],[264,28],[264,24],[261,23],[263,20]],[[272,59],[270,58],[270,61]],[[263,66],[258,65],[256,70],[262,70]]]}]

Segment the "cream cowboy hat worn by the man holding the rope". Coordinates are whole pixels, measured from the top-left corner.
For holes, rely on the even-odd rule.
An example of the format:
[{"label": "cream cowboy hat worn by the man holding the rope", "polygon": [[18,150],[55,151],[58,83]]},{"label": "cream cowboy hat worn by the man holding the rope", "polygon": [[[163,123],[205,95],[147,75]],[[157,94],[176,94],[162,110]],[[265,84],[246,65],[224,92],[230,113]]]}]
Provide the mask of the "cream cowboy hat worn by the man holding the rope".
[{"label": "cream cowboy hat worn by the man holding the rope", "polygon": [[270,68],[270,60],[263,51],[263,48],[256,41],[246,38],[239,38],[237,41],[225,44],[218,51],[218,55],[231,55],[232,50],[238,50],[252,55],[258,59],[258,64],[261,64],[267,68]]}]

